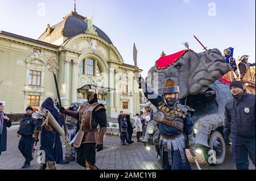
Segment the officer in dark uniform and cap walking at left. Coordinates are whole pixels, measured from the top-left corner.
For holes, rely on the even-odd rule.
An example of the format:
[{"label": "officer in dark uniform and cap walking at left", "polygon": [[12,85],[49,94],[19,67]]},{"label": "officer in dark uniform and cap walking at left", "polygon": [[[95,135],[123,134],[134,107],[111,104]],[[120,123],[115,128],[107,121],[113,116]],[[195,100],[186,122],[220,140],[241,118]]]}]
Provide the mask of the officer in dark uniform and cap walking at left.
[{"label": "officer in dark uniform and cap walking at left", "polygon": [[36,124],[36,119],[32,118],[32,107],[28,106],[26,108],[26,114],[22,117],[19,124],[19,130],[17,132],[17,137],[22,136],[19,140],[19,150],[25,157],[24,165],[22,169],[25,169],[30,166],[32,161],[32,146],[34,144],[34,138],[32,134],[34,133],[35,127],[40,129],[40,126]]}]

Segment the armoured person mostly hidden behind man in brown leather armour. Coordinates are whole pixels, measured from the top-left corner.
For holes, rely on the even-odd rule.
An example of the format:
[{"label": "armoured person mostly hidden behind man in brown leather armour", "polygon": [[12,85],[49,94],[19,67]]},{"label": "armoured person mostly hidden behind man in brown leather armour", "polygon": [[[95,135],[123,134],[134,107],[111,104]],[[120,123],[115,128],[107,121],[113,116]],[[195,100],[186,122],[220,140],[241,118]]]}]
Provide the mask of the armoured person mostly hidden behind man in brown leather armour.
[{"label": "armoured person mostly hidden behind man in brown leather armour", "polygon": [[[68,110],[76,111],[76,112],[78,111],[78,109],[79,109],[79,104],[77,103],[72,103],[68,108]],[[73,140],[73,138],[76,136],[76,133],[77,133],[78,119],[76,119],[75,117],[66,116],[65,124],[67,128],[67,133],[68,133],[68,140],[71,141]],[[67,164],[75,160],[76,160],[76,150],[75,150],[75,146],[72,144],[71,150],[69,150],[68,148],[66,149],[65,159],[63,162],[64,164]]]}]

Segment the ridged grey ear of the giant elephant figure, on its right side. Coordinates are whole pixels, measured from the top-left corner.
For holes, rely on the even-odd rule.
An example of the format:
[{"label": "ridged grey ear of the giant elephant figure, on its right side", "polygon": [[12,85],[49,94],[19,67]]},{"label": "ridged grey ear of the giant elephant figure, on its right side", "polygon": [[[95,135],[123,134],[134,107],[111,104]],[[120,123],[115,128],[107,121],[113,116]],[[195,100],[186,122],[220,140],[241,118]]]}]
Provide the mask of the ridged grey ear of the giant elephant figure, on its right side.
[{"label": "ridged grey ear of the giant elephant figure, on its right side", "polygon": [[218,49],[208,49],[198,53],[198,56],[200,62],[189,77],[189,94],[206,91],[214,81],[229,71],[229,65]]}]

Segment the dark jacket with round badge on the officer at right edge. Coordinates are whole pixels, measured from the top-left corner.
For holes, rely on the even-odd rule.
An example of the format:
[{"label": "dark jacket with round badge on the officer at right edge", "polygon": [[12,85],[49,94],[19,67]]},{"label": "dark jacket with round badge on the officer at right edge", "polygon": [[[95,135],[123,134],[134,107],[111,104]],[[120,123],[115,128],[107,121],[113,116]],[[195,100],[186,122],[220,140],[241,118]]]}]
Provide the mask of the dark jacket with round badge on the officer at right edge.
[{"label": "dark jacket with round badge on the officer at right edge", "polygon": [[245,91],[240,99],[233,98],[225,106],[224,134],[255,138],[255,95]]}]

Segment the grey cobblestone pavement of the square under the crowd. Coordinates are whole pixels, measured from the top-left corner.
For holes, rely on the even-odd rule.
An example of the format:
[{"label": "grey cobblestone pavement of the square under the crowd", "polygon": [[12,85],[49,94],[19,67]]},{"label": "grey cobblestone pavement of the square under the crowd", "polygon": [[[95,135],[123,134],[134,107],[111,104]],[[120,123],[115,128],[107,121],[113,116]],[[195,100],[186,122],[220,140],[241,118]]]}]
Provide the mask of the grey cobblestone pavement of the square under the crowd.
[{"label": "grey cobblestone pavement of the square under the crowd", "polygon": [[[0,169],[21,169],[24,163],[24,158],[18,150],[19,138],[16,137],[16,131],[18,125],[8,128],[7,132],[7,151],[3,152],[0,156]],[[64,137],[61,137],[64,142]],[[133,144],[122,145],[119,136],[106,136],[104,150],[97,152],[96,154],[96,166],[103,169],[161,169],[160,158],[156,158],[156,152],[154,146],[151,146],[150,150],[147,150],[142,142],[135,141],[133,138]],[[39,145],[38,145],[39,148]],[[64,151],[65,149],[63,149]],[[204,161],[203,155],[198,155],[198,161],[202,170],[230,170],[236,169],[233,163],[231,150],[226,150],[226,158],[222,165],[209,166]],[[192,169],[197,170],[195,161],[191,157],[191,154],[187,150],[189,162]],[[31,166],[27,169],[38,169],[37,158],[32,160]],[[67,165],[56,165],[57,169],[63,170],[84,170],[84,167],[79,166],[75,162],[71,162]],[[255,169],[254,165],[250,162],[250,169]]]}]

